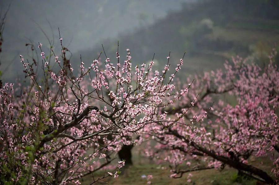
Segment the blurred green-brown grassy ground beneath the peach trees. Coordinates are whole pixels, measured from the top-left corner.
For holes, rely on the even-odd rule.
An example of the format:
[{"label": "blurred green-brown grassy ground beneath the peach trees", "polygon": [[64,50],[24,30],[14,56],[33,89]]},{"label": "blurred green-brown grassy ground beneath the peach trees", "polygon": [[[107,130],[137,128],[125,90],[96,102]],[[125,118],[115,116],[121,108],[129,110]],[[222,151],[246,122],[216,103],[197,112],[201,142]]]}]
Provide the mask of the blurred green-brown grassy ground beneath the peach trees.
[{"label": "blurred green-brown grassy ground beneath the peach trees", "polygon": [[[144,158],[139,155],[140,150],[133,150],[133,166],[126,166],[122,169],[122,173],[117,179],[107,178],[103,181],[103,183],[107,184],[115,184],[115,185],[140,185],[147,184],[146,178],[141,178],[142,175],[153,175],[153,179],[151,180],[151,184],[170,184],[170,185],[182,185],[182,184],[212,184],[212,185],[258,185],[261,184],[254,179],[246,179],[240,178],[237,176],[237,170],[232,169],[230,167],[225,167],[224,170],[202,170],[191,172],[193,174],[191,178],[191,182],[187,182],[188,174],[184,174],[182,178],[179,179],[171,179],[170,176],[170,168],[165,165],[157,165],[153,161],[148,158]],[[272,168],[272,162],[268,158],[250,158],[249,163],[257,166],[270,174]],[[99,174],[94,174],[95,179],[98,176],[102,176],[103,172],[99,172]],[[92,178],[87,176],[80,180],[82,184],[90,184],[92,182]],[[100,184],[100,183],[99,183]]]}]

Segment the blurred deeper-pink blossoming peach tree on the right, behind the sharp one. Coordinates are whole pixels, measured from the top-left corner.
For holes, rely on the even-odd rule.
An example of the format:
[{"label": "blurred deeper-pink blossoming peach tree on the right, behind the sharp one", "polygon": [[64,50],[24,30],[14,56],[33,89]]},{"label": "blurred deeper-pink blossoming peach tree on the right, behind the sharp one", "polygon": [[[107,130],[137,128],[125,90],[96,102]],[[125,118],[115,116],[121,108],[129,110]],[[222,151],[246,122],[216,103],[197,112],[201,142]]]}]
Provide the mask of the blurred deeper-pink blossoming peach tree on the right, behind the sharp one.
[{"label": "blurred deeper-pink blossoming peach tree on the right, behind the sharp one", "polygon": [[[276,53],[275,53],[276,54]],[[150,142],[148,156],[169,162],[172,178],[189,172],[230,166],[265,183],[279,178],[279,72],[273,62],[264,69],[240,57],[225,70],[189,78],[191,91],[179,102],[161,108],[162,115],[182,124],[153,123],[143,129],[142,141]],[[198,95],[198,96],[197,96]],[[214,102],[214,100],[218,100]],[[250,158],[265,157],[273,163],[272,176]],[[260,160],[260,159],[259,159]],[[277,182],[278,183],[278,182]]]}]

